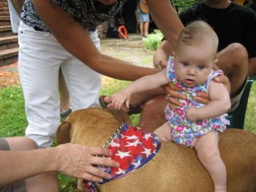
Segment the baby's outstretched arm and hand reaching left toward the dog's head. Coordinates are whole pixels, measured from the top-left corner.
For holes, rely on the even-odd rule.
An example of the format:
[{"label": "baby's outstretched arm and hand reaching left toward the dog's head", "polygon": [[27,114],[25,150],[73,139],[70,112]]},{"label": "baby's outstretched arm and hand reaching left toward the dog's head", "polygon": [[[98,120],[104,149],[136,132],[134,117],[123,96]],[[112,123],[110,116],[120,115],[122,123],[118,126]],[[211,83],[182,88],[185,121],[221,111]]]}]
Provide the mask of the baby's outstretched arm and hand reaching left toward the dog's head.
[{"label": "baby's outstretched arm and hand reaching left toward the dog's head", "polygon": [[118,91],[112,96],[112,106],[116,110],[120,110],[121,106],[125,103],[129,108],[129,99],[132,93],[139,93],[153,88],[158,88],[162,85],[165,85],[167,82],[166,70],[162,70],[157,74],[151,74],[145,77],[141,77],[135,82],[132,82],[121,91]]}]

